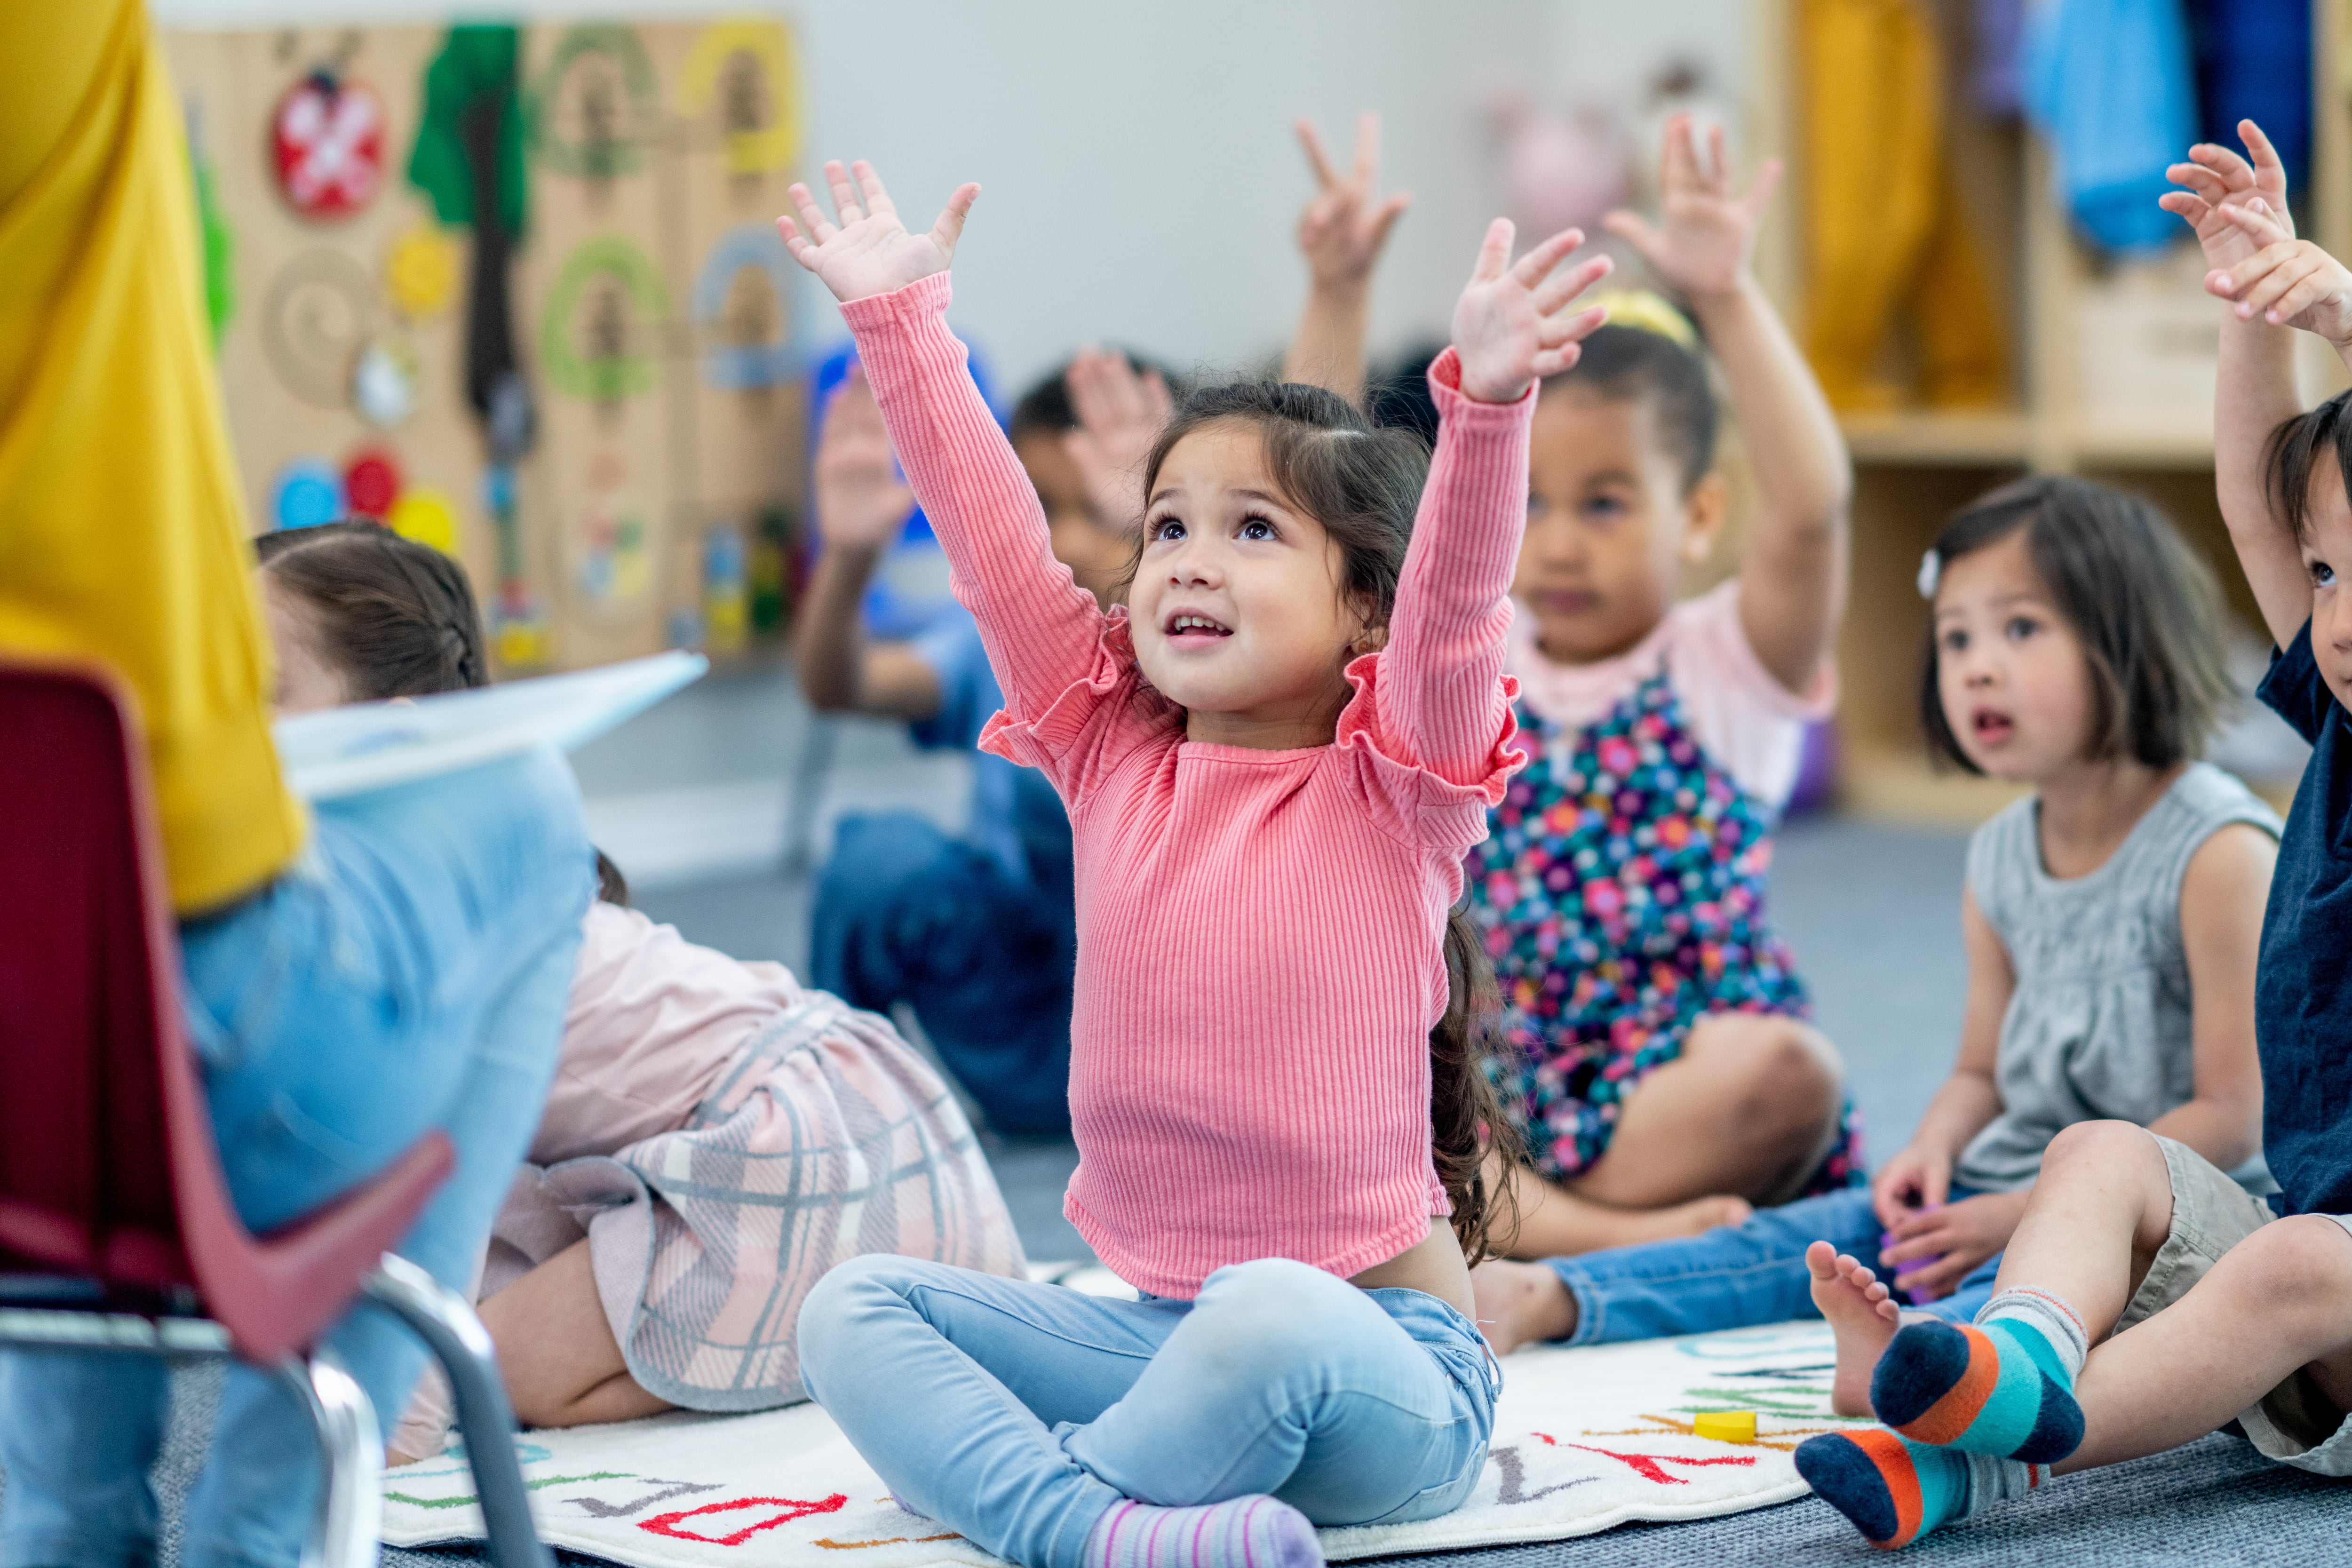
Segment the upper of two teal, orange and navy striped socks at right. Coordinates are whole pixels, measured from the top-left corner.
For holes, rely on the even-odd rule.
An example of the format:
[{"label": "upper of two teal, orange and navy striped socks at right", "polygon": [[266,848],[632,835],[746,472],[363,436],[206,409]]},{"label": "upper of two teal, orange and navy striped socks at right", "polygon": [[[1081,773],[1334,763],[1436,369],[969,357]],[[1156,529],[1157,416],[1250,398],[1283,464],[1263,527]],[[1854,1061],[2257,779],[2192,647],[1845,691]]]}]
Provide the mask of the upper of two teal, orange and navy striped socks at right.
[{"label": "upper of two teal, orange and navy striped socks at right", "polygon": [[1910,1324],[1870,1378],[1870,1406],[1907,1439],[2056,1465],[2082,1446],[2082,1316],[2046,1291],[2002,1291],[1976,1326]]}]

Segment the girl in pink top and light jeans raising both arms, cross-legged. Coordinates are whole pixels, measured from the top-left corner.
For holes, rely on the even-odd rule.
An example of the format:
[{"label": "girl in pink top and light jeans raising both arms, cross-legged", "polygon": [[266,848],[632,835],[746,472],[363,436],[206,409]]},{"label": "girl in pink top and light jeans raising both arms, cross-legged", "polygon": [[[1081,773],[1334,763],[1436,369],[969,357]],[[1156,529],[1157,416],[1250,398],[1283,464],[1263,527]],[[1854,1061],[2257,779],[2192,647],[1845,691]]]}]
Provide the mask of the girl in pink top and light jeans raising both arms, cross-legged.
[{"label": "girl in pink top and light jeans raising both arms, cross-legged", "polygon": [[1030,1568],[1317,1563],[1315,1523],[1444,1514],[1498,1387],[1463,1255],[1498,1117],[1449,905],[1519,764],[1529,393],[1599,324],[1557,313],[1606,261],[1550,277],[1581,235],[1512,266],[1486,233],[1425,484],[1418,442],[1319,388],[1192,395],[1105,614],[946,324],[978,188],[910,235],[870,167],[826,174],[840,226],[795,186],[786,242],[844,303],[981,623],[981,745],[1070,809],[1068,1213],[1145,1298],[851,1260],[802,1314],[809,1392],[906,1507]]}]

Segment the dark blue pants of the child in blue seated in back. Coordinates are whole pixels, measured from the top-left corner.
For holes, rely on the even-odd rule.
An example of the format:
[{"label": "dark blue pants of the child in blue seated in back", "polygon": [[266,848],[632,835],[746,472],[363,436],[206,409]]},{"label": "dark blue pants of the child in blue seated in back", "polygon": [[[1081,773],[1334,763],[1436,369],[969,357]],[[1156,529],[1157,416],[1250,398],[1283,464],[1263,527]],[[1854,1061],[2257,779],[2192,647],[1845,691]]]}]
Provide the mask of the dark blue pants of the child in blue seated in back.
[{"label": "dark blue pants of the child in blue seated in back", "polygon": [[908,811],[849,816],[816,879],[809,983],[851,1006],[915,1009],[1000,1133],[1070,1131],[1077,914]]}]

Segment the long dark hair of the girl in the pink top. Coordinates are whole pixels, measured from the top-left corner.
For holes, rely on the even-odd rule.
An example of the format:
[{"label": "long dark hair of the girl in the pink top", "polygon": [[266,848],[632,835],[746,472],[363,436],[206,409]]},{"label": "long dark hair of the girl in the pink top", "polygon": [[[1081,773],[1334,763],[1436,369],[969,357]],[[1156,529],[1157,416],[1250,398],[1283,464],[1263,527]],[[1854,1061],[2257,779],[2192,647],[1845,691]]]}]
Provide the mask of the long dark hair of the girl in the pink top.
[{"label": "long dark hair of the girl in the pink top", "polygon": [[[1411,430],[1376,430],[1357,409],[1319,386],[1294,381],[1235,381],[1192,393],[1176,407],[1150,458],[1143,494],[1160,482],[1176,442],[1216,421],[1256,425],[1265,468],[1282,496],[1322,524],[1341,548],[1341,592],[1364,609],[1367,625],[1388,625],[1397,607],[1404,548],[1414,538],[1430,449]],[[1127,567],[1134,583],[1143,541]],[[1498,1251],[1512,1222],[1510,1180],[1491,1180],[1519,1164],[1519,1131],[1486,1077],[1496,1016],[1494,966],[1470,922],[1446,919],[1446,1011],[1430,1030],[1430,1154],[1454,1204],[1454,1239],[1470,1262]]]}]

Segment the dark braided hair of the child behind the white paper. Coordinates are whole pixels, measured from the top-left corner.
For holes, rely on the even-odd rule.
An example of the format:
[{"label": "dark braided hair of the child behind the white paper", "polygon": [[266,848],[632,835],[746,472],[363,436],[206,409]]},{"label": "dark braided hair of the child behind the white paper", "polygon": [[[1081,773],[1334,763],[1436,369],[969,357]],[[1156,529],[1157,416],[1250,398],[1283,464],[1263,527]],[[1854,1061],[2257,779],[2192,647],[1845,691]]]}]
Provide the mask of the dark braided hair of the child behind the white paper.
[{"label": "dark braided hair of the child behind the white paper", "polygon": [[[376,522],[278,529],[254,541],[270,581],[318,616],[320,654],[355,701],[489,684],[482,611],[454,559]],[[621,867],[595,851],[597,898],[628,903]]]}]

